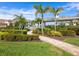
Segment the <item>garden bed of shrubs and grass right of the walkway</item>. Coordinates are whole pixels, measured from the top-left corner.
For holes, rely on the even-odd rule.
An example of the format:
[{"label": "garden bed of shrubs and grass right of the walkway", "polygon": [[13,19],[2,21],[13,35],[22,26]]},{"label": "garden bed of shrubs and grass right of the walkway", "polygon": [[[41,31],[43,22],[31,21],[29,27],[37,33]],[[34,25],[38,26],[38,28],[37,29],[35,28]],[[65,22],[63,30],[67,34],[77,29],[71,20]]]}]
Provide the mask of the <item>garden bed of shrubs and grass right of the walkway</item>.
[{"label": "garden bed of shrubs and grass right of the walkway", "polygon": [[[67,27],[64,30],[62,30],[62,28],[61,30],[57,29],[57,31],[54,31],[51,28],[44,28],[44,36],[79,46],[78,31],[79,28],[74,26]],[[33,30],[33,33],[42,35],[41,29],[35,29]]]}]

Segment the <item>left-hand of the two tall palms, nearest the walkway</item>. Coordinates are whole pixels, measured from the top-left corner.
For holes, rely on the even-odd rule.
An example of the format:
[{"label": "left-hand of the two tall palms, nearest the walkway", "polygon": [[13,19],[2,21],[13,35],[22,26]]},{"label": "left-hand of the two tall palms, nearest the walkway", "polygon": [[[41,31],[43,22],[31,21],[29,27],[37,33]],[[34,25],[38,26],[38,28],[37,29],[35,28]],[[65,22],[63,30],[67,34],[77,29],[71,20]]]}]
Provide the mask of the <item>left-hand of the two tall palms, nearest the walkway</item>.
[{"label": "left-hand of the two tall palms, nearest the walkway", "polygon": [[41,14],[41,30],[42,30],[42,35],[44,35],[44,32],[43,32],[43,27],[44,27],[44,23],[43,23],[43,19],[44,19],[44,13],[48,12],[48,7],[44,8],[42,5],[34,5],[33,6],[35,9],[36,9],[36,13],[35,15],[37,16],[37,14]]}]

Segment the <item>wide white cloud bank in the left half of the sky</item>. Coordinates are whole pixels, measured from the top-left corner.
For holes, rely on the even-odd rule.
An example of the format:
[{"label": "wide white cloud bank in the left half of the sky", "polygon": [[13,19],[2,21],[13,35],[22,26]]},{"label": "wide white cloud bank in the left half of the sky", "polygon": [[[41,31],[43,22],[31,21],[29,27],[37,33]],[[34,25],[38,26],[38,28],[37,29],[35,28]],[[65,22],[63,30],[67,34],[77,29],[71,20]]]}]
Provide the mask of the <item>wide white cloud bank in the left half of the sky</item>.
[{"label": "wide white cloud bank in the left half of the sky", "polygon": [[35,18],[35,11],[35,9],[7,9],[6,7],[2,7],[0,8],[0,19],[13,19],[15,14],[23,14],[26,19],[32,20]]}]

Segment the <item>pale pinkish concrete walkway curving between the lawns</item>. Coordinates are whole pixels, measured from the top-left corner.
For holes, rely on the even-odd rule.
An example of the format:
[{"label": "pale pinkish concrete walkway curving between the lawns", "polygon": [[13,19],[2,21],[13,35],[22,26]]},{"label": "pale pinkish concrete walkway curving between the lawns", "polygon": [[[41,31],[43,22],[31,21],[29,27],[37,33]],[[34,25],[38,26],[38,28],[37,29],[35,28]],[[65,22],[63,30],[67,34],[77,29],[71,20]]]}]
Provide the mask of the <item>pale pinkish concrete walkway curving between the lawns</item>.
[{"label": "pale pinkish concrete walkway curving between the lawns", "polygon": [[[32,31],[30,31],[29,33],[32,34]],[[53,38],[49,38],[49,37],[39,36],[39,38],[41,41],[48,42],[48,43],[53,44],[56,47],[63,49],[64,51],[67,51],[75,56],[79,56],[79,47],[78,46],[75,46],[75,45],[72,45],[72,44],[69,44],[69,43],[66,43],[63,41],[59,41],[59,40],[56,40]]]}]

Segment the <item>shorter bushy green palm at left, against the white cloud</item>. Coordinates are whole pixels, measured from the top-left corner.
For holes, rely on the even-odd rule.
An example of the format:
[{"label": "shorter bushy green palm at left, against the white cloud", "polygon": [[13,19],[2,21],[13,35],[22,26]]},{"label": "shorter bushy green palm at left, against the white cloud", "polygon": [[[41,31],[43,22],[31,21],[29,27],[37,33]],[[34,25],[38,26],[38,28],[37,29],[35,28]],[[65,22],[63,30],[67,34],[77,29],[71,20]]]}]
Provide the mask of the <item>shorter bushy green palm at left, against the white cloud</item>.
[{"label": "shorter bushy green palm at left, against the white cloud", "polygon": [[19,29],[24,29],[27,23],[27,20],[23,17],[23,15],[15,15],[15,26],[18,26]]}]

